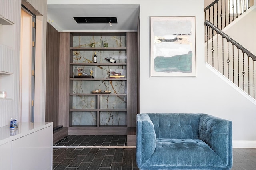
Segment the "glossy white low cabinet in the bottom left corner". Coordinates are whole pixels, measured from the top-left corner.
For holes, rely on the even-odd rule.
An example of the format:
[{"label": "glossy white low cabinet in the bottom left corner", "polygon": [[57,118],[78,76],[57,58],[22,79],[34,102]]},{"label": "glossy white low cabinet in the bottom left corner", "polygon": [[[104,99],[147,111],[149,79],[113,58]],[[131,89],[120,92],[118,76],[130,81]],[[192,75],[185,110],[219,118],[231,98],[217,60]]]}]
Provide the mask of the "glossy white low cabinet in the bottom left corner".
[{"label": "glossy white low cabinet in the bottom left corner", "polygon": [[19,123],[15,132],[1,127],[0,169],[51,170],[52,126],[52,122]]}]

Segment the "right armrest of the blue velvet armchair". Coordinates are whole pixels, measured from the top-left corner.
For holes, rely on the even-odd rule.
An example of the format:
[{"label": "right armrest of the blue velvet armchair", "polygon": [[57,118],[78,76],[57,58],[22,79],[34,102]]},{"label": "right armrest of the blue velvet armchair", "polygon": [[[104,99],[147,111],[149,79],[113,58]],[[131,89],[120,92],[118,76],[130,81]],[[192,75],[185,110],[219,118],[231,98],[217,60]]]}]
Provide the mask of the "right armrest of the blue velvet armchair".
[{"label": "right armrest of the blue velvet armchair", "polygon": [[232,121],[203,115],[199,123],[199,139],[206,142],[228,167],[232,167]]}]

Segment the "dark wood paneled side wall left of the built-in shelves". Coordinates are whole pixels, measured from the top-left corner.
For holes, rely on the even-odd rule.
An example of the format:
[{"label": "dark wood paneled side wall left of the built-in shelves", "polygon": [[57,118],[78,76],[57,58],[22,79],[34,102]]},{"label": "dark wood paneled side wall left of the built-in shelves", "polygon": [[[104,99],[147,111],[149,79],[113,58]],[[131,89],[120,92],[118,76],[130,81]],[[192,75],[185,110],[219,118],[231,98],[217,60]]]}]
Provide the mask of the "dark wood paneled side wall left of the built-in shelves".
[{"label": "dark wood paneled side wall left of the built-in shelves", "polygon": [[[58,126],[60,33],[47,23],[46,36],[46,115],[45,121]],[[64,69],[64,68],[62,68]]]}]

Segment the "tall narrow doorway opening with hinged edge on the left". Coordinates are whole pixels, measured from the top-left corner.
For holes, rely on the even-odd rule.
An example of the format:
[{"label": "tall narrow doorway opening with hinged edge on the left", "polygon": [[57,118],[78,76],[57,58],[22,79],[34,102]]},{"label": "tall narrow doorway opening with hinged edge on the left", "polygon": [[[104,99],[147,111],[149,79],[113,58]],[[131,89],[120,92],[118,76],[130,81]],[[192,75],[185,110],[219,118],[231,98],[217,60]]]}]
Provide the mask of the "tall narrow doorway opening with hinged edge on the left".
[{"label": "tall narrow doorway opening with hinged edge on the left", "polygon": [[34,122],[36,16],[21,10],[20,103],[21,121]]}]

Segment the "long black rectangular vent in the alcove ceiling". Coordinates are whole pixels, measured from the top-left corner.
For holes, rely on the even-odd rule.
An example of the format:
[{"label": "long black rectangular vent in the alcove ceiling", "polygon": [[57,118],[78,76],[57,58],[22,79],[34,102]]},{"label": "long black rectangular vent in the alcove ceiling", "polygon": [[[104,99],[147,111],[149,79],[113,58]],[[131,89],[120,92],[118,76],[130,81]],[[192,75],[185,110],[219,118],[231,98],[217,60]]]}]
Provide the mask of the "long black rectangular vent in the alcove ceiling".
[{"label": "long black rectangular vent in the alcove ceiling", "polygon": [[117,23],[116,17],[74,17],[78,24],[80,23]]}]

